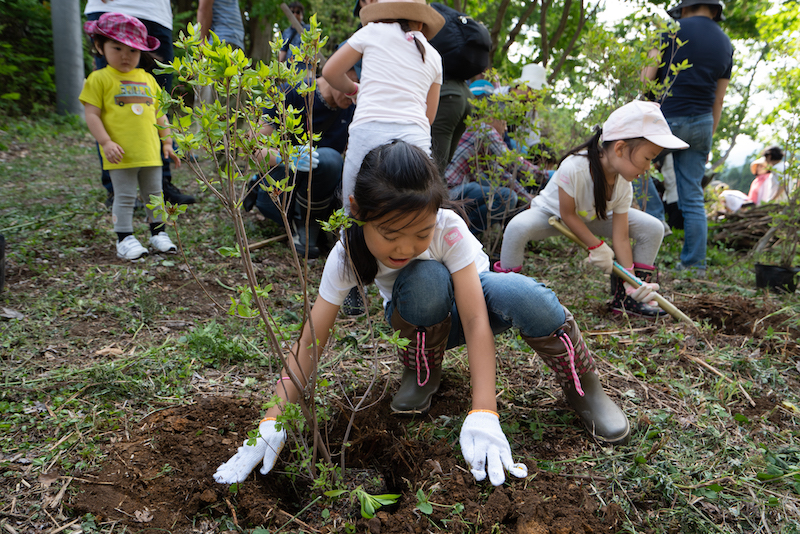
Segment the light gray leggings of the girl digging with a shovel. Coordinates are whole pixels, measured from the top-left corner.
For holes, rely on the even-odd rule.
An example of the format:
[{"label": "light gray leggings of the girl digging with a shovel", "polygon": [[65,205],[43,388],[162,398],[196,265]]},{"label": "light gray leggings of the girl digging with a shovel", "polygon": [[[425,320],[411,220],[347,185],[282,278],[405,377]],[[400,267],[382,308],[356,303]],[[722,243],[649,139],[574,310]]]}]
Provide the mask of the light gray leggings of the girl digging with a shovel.
[{"label": "light gray leggings of the girl digging with a shovel", "polygon": [[[522,265],[528,241],[541,241],[546,237],[561,235],[561,232],[547,222],[552,215],[558,214],[533,206],[511,219],[503,232],[503,247],[500,249],[500,262],[504,269]],[[598,218],[586,223],[586,226],[595,235],[611,237],[611,223],[612,217],[606,220]],[[661,221],[631,208],[628,210],[628,235],[633,240],[631,249],[634,263],[655,265],[661,240],[664,239]]]}]

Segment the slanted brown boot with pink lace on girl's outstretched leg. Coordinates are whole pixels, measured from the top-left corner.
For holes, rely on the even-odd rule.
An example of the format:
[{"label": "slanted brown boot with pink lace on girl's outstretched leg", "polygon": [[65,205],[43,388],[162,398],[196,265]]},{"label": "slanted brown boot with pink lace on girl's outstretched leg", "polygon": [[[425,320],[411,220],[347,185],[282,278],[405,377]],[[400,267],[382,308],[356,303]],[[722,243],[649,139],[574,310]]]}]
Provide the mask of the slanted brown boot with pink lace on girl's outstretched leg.
[{"label": "slanted brown boot with pink lace on girl's outstretched leg", "polygon": [[622,445],[630,439],[625,413],[600,384],[597,369],[572,314],[564,308],[564,325],[545,337],[522,339],[556,374],[567,403],[597,441]]}]

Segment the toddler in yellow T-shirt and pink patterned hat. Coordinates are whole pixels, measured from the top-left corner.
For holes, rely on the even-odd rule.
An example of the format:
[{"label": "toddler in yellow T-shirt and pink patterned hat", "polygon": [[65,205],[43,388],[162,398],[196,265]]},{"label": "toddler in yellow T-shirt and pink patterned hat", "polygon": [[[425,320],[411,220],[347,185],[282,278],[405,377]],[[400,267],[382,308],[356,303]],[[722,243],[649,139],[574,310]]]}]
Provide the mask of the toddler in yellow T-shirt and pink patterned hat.
[{"label": "toddler in yellow T-shirt and pink patterned hat", "polygon": [[[145,204],[150,195],[162,194],[162,153],[177,166],[180,160],[172,148],[164,115],[156,109],[159,91],[155,78],[138,68],[143,51],[159,46],[155,37],[138,19],[121,13],[104,13],[84,24],[93,37],[95,52],[105,57],[108,66],[89,75],[80,94],[86,109],[86,124],[100,145],[103,168],[114,184],[111,208],[117,233],[117,256],[138,260],[148,253],[133,236],[133,208],[137,185]],[[177,247],[164,231],[161,216],[149,208],[150,245],[158,252],[174,254]]]}]

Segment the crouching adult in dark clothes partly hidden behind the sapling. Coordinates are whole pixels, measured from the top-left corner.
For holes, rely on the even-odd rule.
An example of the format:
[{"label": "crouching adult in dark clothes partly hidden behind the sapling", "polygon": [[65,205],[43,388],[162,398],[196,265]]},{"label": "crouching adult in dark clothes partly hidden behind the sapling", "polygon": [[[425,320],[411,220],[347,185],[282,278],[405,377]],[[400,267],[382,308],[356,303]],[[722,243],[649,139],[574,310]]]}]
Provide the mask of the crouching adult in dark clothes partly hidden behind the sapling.
[{"label": "crouching adult in dark clothes partly hidden behind the sapling", "polygon": [[[354,81],[358,80],[356,70],[351,69],[348,73]],[[306,124],[306,100],[303,95],[296,90],[290,89],[286,94],[286,106],[292,106],[300,110],[302,115],[301,124]],[[325,78],[317,78],[317,90],[314,93],[312,127],[315,134],[320,134],[321,139],[314,144],[316,158],[310,162],[311,172],[311,198],[308,196],[309,172],[299,170],[302,165],[298,165],[295,188],[292,192],[292,206],[289,207],[290,222],[292,226],[292,239],[299,254],[305,254],[308,250],[309,258],[316,258],[320,254],[319,239],[322,231],[317,222],[318,219],[327,219],[333,206],[334,199],[339,198],[338,190],[342,185],[342,167],[344,165],[342,154],[347,145],[347,129],[353,120],[355,106],[353,101],[331,87]],[[274,110],[267,110],[264,116],[265,124],[261,132],[270,135],[274,130],[271,120],[275,118]],[[275,152],[262,154],[264,159],[269,159],[270,176],[275,180],[282,180],[286,177],[286,167],[277,160]],[[307,168],[307,167],[306,167]],[[255,206],[265,216],[275,222],[282,224],[281,211],[276,206],[269,194],[261,188],[254,188],[257,194]],[[252,198],[252,197],[251,197]],[[252,200],[251,200],[252,202]],[[247,207],[247,203],[245,204]],[[306,212],[310,210],[310,221],[308,226],[308,240],[306,241]]]}]

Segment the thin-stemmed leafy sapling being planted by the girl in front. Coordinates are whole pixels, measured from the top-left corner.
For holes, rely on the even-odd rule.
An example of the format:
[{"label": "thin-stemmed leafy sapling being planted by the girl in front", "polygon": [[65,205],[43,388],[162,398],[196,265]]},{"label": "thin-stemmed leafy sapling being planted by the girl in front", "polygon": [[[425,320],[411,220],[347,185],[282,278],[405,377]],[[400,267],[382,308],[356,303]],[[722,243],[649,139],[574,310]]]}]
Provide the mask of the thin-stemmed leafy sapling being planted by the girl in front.
[{"label": "thin-stemmed leafy sapling being planted by the girl in front", "polygon": [[[303,34],[303,44],[297,51],[296,61],[314,64],[314,58],[325,39],[321,36],[314,17],[310,23],[311,29]],[[275,42],[272,47],[277,50],[281,44]],[[275,204],[282,208],[284,228],[287,233],[290,232],[286,210],[294,189],[296,167],[292,162],[297,159],[298,154],[308,150],[313,132],[306,132],[300,123],[298,111],[285,105],[281,88],[296,87],[298,92],[309,95],[310,99],[313,96],[314,83],[306,80],[303,73],[292,66],[277,61],[268,65],[263,62],[253,65],[241,50],[220,42],[213,32],[208,40],[201,39],[199,31],[192,25],[181,32],[176,47],[184,49],[185,54],[169,65],[162,64],[163,71],[173,74],[189,86],[210,85],[217,95],[213,102],[194,108],[166,92],[162,92],[160,100],[163,107],[172,111],[170,127],[174,131],[178,152],[188,159],[198,182],[214,195],[233,222],[235,244],[233,247],[222,247],[220,253],[240,261],[247,282],[236,288],[238,295],[231,297],[231,303],[226,309],[231,315],[243,319],[259,319],[270,352],[278,355],[284,365],[288,366],[287,359],[292,355],[287,355],[282,346],[282,331],[285,328],[270,306],[272,286],[263,284],[256,276],[241,207],[251,187],[248,177],[254,173],[263,175],[267,183],[265,189]],[[269,136],[259,134],[264,109],[276,110],[280,124]],[[192,125],[196,125],[196,128],[192,129]],[[290,162],[286,165],[286,175],[283,178],[269,176],[271,169],[263,157],[265,151],[279,154],[283,161]],[[205,171],[197,158],[191,157],[204,153],[210,155],[213,161],[214,171],[211,173]],[[309,187],[310,184],[311,180]],[[185,207],[165,204],[162,199],[153,201],[180,235],[178,221]],[[308,266],[298,256],[291,242],[290,247],[292,262],[301,283],[305,322],[310,307],[305,283]],[[221,303],[217,304],[222,307]],[[313,325],[311,327],[313,329]],[[315,378],[309,378],[313,383]],[[298,383],[300,380],[296,376],[290,379]],[[296,406],[302,419],[308,423],[312,435],[318,434],[317,422],[320,417],[314,402],[313,388],[297,400]],[[330,454],[320,439],[313,439],[313,444],[307,445],[304,454],[310,459],[304,465],[311,478],[314,477],[318,455],[330,460]]]}]

